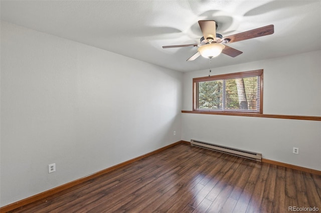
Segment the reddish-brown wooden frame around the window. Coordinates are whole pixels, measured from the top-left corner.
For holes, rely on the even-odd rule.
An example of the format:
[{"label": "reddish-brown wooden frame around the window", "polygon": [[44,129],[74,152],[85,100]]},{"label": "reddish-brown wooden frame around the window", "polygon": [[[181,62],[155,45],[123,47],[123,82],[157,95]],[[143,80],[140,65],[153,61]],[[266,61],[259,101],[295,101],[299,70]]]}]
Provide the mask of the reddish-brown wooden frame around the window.
[{"label": "reddish-brown wooden frame around the window", "polygon": [[[260,110],[258,112],[244,111],[244,110],[219,110],[219,109],[197,109],[196,108],[196,83],[197,82],[225,80],[225,79],[243,78],[243,77],[254,77],[254,76],[260,76],[260,102],[259,102]],[[212,112],[217,114],[227,114],[227,113],[263,114],[263,69],[193,78],[193,111]]]}]

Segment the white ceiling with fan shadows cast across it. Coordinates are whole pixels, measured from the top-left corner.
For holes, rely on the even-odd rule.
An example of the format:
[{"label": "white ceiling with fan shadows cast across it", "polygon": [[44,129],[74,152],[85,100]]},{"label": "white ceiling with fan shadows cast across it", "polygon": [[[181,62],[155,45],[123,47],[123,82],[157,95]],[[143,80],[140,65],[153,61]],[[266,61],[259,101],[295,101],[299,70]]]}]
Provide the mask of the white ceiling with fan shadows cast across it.
[{"label": "white ceiling with fan shadows cast across it", "polygon": [[[238,64],[321,49],[320,0],[1,0],[1,19],[179,71]],[[198,20],[223,36],[274,24],[274,34],[228,44],[243,51],[187,58]]]}]

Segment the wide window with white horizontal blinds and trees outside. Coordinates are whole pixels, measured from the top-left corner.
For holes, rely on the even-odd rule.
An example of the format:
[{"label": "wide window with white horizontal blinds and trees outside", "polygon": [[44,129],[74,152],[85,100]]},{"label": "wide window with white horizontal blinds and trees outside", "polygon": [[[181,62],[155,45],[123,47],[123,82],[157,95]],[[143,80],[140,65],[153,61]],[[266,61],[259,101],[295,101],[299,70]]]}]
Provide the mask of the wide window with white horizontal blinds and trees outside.
[{"label": "wide window with white horizontal blinds and trees outside", "polygon": [[262,113],[263,70],[193,78],[193,110]]}]

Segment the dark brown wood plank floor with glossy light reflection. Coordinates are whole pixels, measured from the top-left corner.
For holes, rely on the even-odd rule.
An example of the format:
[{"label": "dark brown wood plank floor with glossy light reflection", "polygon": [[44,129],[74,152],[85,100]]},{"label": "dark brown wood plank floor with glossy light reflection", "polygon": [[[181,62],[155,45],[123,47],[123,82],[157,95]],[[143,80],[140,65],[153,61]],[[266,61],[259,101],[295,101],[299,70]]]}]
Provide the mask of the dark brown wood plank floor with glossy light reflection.
[{"label": "dark brown wood plank floor with glossy light reflection", "polygon": [[288,212],[321,176],[179,144],[12,212]]}]

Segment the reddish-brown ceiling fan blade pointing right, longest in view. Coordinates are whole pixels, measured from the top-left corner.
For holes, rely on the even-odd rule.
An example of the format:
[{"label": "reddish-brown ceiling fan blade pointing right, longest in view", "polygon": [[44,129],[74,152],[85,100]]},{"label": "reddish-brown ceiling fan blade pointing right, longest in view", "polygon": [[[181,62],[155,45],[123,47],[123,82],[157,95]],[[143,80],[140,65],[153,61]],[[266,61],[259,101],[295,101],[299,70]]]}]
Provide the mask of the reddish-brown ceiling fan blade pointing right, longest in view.
[{"label": "reddish-brown ceiling fan blade pointing right, longest in view", "polygon": [[222,41],[224,43],[224,40],[227,40],[228,43],[232,43],[240,40],[246,40],[254,37],[273,34],[273,33],[274,33],[274,25],[270,24],[270,25],[262,26],[256,29],[251,29],[245,32],[236,33],[234,35],[229,35],[227,37],[224,37]]}]

